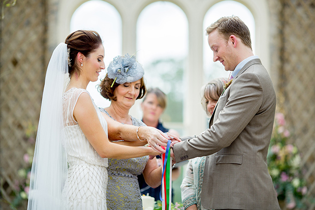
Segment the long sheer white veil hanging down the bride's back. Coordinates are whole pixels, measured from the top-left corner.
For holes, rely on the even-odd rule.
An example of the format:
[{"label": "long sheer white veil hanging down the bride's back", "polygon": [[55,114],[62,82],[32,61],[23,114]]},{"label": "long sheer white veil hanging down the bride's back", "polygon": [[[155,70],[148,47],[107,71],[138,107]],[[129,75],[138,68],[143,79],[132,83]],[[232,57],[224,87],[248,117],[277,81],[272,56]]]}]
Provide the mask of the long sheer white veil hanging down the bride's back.
[{"label": "long sheer white veil hanging down the bride's back", "polygon": [[46,72],[27,209],[61,208],[61,192],[67,177],[62,121],[62,95],[67,77],[67,44],[60,43],[52,53]]}]

